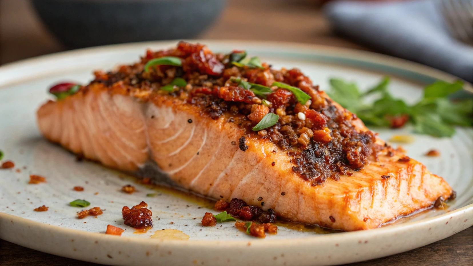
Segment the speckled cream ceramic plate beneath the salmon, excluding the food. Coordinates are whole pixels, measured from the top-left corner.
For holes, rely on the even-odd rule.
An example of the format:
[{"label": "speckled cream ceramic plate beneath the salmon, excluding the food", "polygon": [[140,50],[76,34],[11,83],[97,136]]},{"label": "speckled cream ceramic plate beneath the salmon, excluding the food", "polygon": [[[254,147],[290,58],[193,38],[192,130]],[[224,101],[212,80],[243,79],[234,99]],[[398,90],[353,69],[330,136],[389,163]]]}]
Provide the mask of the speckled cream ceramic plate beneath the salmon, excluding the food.
[{"label": "speckled cream ceramic plate beneath the salmon, excluding the food", "polygon": [[[436,79],[454,80],[438,70],[379,54],[290,43],[202,41],[214,51],[245,49],[279,67],[302,69],[322,89],[330,77],[356,81],[360,87],[392,77],[391,91],[408,102]],[[280,226],[277,235],[255,239],[239,232],[234,223],[202,227],[208,200],[134,184],[123,173],[91,162],[76,162],[73,154],[45,141],[36,129],[35,111],[48,99],[46,88],[58,81],[86,83],[94,69],[129,63],[147,48],[161,49],[175,42],[123,44],[63,52],[0,67],[0,149],[16,167],[0,170],[0,238],[19,245],[75,259],[108,265],[334,265],[383,257],[446,238],[473,224],[473,130],[457,129],[452,138],[412,135],[403,145],[408,155],[443,176],[457,198],[447,210],[429,210],[381,228],[326,234],[318,228]],[[472,89],[467,86],[467,89]],[[374,129],[384,139],[412,134],[411,128]],[[426,157],[428,150],[439,157]],[[29,174],[47,182],[28,184]],[[139,190],[120,191],[126,184]],[[84,191],[74,191],[74,186]],[[97,193],[98,192],[98,193]],[[155,197],[146,194],[155,193]],[[105,209],[97,218],[77,219],[81,208],[74,199],[86,199]],[[121,209],[145,200],[153,212],[154,227],[136,232],[123,225]],[[46,212],[34,208],[46,205]],[[212,211],[216,213],[215,211]],[[126,231],[122,237],[105,235],[107,224]],[[165,230],[163,230],[165,229]],[[167,230],[166,230],[167,229]]]}]

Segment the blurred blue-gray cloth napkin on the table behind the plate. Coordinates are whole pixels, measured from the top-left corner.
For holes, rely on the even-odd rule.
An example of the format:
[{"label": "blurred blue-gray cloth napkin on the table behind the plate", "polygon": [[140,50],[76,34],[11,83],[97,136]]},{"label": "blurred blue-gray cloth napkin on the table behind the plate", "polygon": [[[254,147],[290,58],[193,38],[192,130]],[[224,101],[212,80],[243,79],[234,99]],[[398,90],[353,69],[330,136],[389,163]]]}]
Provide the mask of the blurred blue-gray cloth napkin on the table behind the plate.
[{"label": "blurred blue-gray cloth napkin on the table behind the plate", "polygon": [[448,32],[438,0],[334,1],[324,12],[335,30],[388,54],[473,83],[473,46]]}]

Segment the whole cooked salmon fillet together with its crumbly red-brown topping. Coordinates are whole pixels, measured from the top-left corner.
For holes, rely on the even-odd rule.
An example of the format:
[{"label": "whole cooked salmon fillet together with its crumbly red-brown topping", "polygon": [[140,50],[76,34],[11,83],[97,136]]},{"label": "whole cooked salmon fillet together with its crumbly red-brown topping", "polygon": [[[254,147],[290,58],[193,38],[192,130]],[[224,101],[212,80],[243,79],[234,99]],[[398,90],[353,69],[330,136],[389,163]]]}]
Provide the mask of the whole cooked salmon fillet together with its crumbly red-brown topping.
[{"label": "whole cooked salmon fillet together with its crumbly red-brown topping", "polygon": [[[203,196],[344,231],[376,228],[452,195],[445,180],[385,144],[298,69],[234,64],[238,53],[183,42],[148,51],[44,103],[39,129],[108,167],[136,173],[158,165],[175,185]],[[145,69],[162,57],[182,65]],[[173,85],[177,77],[185,84]],[[277,121],[252,130],[269,114]]]}]

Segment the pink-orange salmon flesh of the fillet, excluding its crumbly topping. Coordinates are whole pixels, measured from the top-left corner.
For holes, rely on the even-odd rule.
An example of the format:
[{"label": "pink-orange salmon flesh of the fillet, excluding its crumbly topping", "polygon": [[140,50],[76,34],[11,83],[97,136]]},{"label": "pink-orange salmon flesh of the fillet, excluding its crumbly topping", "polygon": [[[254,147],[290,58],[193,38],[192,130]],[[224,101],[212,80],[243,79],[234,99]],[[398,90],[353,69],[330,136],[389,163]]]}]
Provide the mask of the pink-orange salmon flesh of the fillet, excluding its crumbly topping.
[{"label": "pink-orange salmon flesh of the fillet, excluding its crumbly topping", "polygon": [[[376,228],[453,192],[425,165],[378,138],[382,148],[363,167],[315,185],[293,171],[293,156],[249,134],[231,113],[211,118],[175,95],[130,91],[122,81],[85,88],[39,108],[45,138],[124,172],[157,165],[176,186],[214,199],[242,199],[290,221],[344,231]],[[319,91],[311,96],[330,100]],[[351,124],[368,130],[359,119]]]}]

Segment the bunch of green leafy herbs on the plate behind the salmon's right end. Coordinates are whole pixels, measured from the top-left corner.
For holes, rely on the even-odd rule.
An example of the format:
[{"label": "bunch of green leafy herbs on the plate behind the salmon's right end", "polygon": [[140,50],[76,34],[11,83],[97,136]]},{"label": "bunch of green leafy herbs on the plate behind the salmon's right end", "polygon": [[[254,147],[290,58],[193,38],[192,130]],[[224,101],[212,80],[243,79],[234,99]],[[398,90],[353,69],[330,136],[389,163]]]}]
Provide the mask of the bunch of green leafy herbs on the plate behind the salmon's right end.
[{"label": "bunch of green leafy herbs on the plate behind the salmon's right end", "polygon": [[[342,79],[330,80],[333,101],[355,113],[368,125],[394,127],[393,118],[409,117],[414,130],[420,134],[434,137],[451,137],[455,133],[454,125],[471,126],[473,122],[473,100],[465,98],[452,100],[452,94],[462,90],[463,83],[437,81],[425,87],[423,98],[413,105],[395,99],[387,90],[389,78],[361,93],[358,86]],[[372,103],[366,103],[366,97],[375,97]],[[401,125],[402,126],[402,125]]]}]

